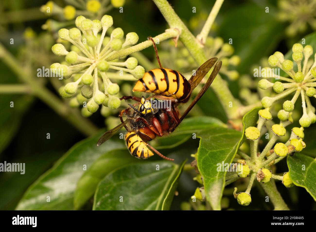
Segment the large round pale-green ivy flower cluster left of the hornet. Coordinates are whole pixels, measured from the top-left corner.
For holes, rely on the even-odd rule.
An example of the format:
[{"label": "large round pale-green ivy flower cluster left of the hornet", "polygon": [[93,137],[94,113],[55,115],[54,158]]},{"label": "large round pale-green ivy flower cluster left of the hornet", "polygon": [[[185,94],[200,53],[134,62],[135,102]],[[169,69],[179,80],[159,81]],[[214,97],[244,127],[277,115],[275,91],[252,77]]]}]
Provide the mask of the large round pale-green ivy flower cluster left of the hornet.
[{"label": "large round pale-green ivy flower cluster left of the hornet", "polygon": [[78,16],[75,23],[74,28],[62,28],[58,31],[60,39],[73,44],[72,51],[67,51],[62,44],[52,46],[53,53],[65,56],[66,61],[51,65],[51,70],[62,73],[66,82],[59,93],[63,98],[71,98],[72,107],[83,105],[83,116],[90,116],[101,104],[103,108],[117,109],[120,106],[120,100],[116,97],[119,85],[111,82],[107,71],[118,70],[117,76],[124,71],[132,74],[136,80],[143,77],[145,70],[134,57],[125,61],[110,61],[109,57],[121,49],[135,45],[138,35],[134,32],[127,33],[124,40],[124,32],[118,27],[112,31],[110,37],[106,37],[107,29],[113,25],[110,15],[104,15],[101,21]]}]

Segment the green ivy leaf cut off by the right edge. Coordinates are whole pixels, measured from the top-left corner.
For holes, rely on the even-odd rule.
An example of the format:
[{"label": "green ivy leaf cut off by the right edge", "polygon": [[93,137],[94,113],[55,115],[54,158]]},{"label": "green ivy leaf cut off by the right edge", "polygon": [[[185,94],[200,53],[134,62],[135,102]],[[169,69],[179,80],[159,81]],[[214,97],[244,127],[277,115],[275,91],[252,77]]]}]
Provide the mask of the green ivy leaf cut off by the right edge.
[{"label": "green ivy leaf cut off by the right edge", "polygon": [[[289,176],[296,186],[304,187],[316,201],[316,160],[296,152],[287,157]],[[305,165],[305,170],[302,170]]]}]

